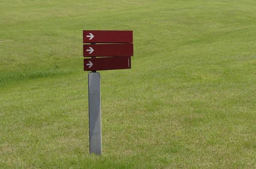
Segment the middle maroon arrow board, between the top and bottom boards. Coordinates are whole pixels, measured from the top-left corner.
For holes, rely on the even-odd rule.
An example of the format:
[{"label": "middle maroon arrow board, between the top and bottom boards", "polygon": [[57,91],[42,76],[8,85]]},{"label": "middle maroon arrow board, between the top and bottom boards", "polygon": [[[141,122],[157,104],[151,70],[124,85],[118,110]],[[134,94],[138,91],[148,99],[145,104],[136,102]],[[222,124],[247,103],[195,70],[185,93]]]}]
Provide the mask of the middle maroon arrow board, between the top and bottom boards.
[{"label": "middle maroon arrow board, between the top and bottom boards", "polygon": [[133,44],[90,44],[84,45],[84,57],[133,56]]}]

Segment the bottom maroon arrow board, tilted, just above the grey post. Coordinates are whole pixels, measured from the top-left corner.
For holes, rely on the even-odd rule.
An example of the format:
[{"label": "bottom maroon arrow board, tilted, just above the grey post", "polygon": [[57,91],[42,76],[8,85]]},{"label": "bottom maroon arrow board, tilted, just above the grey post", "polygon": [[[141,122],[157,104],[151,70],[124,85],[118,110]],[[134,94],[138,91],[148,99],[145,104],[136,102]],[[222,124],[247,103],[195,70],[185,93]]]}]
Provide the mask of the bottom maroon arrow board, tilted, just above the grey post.
[{"label": "bottom maroon arrow board, tilted, just above the grey post", "polygon": [[131,56],[84,59],[84,71],[131,69]]}]

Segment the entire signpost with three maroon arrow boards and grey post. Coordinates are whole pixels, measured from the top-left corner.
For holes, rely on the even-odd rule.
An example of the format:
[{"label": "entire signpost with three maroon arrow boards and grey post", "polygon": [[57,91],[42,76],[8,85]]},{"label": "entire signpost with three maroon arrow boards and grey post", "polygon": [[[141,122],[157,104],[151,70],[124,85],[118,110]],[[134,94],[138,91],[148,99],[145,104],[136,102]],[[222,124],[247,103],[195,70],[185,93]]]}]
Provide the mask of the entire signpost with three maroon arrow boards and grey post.
[{"label": "entire signpost with three maroon arrow boards and grey post", "polygon": [[84,71],[92,71],[88,73],[90,154],[101,155],[100,74],[96,70],[131,69],[133,32],[83,31],[83,42],[90,43],[83,46],[84,57],[92,57],[84,59]]}]

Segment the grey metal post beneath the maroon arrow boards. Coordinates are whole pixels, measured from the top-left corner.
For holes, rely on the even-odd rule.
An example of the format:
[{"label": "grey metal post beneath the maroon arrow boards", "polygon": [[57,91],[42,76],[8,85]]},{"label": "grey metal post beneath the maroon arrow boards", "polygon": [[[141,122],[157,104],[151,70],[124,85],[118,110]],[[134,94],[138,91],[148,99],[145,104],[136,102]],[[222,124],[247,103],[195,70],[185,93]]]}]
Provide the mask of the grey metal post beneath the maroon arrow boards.
[{"label": "grey metal post beneath the maroon arrow boards", "polygon": [[100,106],[100,74],[88,73],[88,100],[89,100],[89,134],[90,154],[101,155],[101,106]]}]

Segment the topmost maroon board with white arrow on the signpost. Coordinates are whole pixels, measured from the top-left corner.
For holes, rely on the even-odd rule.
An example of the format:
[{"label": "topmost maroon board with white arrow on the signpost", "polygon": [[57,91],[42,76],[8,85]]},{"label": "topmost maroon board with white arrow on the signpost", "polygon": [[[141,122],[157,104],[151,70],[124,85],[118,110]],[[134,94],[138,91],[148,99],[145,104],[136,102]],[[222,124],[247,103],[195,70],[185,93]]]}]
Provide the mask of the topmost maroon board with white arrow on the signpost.
[{"label": "topmost maroon board with white arrow on the signpost", "polygon": [[132,43],[132,31],[83,31],[84,43]]}]

